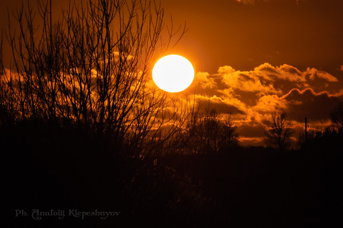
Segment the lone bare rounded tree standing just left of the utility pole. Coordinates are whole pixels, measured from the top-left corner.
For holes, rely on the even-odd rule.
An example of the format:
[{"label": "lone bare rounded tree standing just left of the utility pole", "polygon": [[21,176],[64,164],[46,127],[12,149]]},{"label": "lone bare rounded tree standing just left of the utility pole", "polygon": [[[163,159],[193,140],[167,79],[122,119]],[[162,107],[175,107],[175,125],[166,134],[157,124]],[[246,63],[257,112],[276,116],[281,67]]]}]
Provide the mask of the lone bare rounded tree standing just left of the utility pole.
[{"label": "lone bare rounded tree standing just left of the utility pole", "polygon": [[264,141],[267,145],[276,147],[280,152],[290,145],[290,137],[294,133],[292,124],[287,119],[287,112],[284,108],[274,111],[269,120],[269,127],[264,132]]}]

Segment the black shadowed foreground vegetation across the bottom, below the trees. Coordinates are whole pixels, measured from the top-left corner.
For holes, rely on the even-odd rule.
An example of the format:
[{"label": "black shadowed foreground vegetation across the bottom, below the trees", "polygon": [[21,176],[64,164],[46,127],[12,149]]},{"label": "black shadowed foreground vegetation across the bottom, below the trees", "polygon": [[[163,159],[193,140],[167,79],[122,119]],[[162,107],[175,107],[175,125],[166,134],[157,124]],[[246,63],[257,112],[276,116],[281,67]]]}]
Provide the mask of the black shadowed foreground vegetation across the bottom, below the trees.
[{"label": "black shadowed foreground vegetation across the bottom, below the trees", "polygon": [[[336,227],[342,225],[342,133],[279,153],[113,158],[95,140],[45,125],[2,129],[4,214],[12,227]],[[15,216],[24,209],[28,216]],[[32,209],[120,212],[32,218]],[[66,212],[67,213],[67,212]]]}]

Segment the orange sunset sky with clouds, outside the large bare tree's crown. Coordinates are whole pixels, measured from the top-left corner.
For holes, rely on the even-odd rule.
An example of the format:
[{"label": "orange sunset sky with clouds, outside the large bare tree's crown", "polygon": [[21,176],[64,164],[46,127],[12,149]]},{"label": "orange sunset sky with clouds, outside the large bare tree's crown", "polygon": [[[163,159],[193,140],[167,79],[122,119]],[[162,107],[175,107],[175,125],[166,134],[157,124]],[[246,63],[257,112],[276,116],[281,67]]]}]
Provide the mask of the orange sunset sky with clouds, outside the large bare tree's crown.
[{"label": "orange sunset sky with clouds, outside the large bare tree's crown", "polygon": [[[58,2],[58,3],[57,3]],[[52,1],[57,12],[69,0]],[[1,7],[1,27],[21,1]],[[36,1],[32,1],[36,5]],[[343,100],[343,2],[339,0],[161,0],[165,23],[189,30],[166,54],[195,63],[186,89],[202,104],[236,115],[240,141],[262,145],[275,108],[286,108],[297,134],[324,128]],[[8,47],[4,47],[7,53]]]}]

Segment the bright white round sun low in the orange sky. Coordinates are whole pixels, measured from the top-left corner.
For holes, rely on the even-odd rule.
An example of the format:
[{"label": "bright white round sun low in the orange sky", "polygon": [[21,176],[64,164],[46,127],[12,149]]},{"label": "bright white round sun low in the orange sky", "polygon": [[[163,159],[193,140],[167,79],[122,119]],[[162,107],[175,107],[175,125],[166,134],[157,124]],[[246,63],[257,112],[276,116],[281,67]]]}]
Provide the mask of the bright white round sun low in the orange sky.
[{"label": "bright white round sun low in the orange sky", "polygon": [[164,56],[154,65],[152,78],[155,84],[164,91],[180,92],[192,83],[194,68],[185,57]]}]

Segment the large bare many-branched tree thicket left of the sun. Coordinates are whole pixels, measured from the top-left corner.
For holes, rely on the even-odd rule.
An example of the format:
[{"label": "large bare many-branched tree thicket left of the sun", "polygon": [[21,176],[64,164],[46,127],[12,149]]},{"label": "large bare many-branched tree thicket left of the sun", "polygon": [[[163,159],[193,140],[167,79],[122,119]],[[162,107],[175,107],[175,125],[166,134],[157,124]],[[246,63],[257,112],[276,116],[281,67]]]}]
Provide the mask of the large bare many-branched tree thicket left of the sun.
[{"label": "large bare many-branched tree thicket left of the sun", "polygon": [[[13,65],[4,69],[1,52],[1,123],[55,124],[96,135],[128,156],[150,154],[152,139],[169,142],[186,105],[146,81],[157,50],[176,44],[186,29],[167,27],[164,39],[164,10],[150,1],[71,3],[57,23],[51,1],[38,8],[43,27],[37,30],[32,8],[22,6],[14,14],[19,33],[12,21],[6,31]],[[163,128],[167,123],[173,127]]]}]

